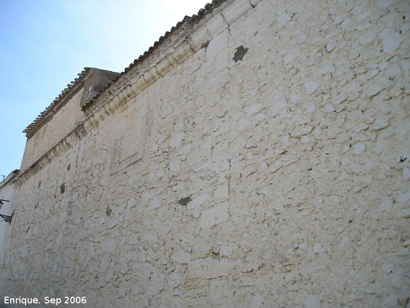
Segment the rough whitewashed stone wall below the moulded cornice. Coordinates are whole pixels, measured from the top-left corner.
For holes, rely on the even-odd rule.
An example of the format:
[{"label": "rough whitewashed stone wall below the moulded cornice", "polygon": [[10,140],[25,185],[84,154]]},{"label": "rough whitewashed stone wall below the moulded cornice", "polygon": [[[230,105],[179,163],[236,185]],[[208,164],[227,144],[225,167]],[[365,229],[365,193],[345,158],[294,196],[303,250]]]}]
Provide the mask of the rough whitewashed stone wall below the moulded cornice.
[{"label": "rough whitewashed stone wall below the moulded cornice", "polygon": [[21,181],[0,295],[408,306],[409,17],[259,2]]}]

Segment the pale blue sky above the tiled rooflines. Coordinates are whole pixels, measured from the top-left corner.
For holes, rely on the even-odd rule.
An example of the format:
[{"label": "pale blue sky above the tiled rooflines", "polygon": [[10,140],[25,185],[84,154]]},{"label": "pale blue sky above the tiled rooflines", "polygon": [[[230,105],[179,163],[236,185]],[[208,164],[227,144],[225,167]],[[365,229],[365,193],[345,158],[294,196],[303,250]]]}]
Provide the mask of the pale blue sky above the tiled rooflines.
[{"label": "pale blue sky above the tiled rooflines", "polygon": [[22,131],[84,67],[124,71],[206,3],[0,0],[0,175],[20,168]]}]

